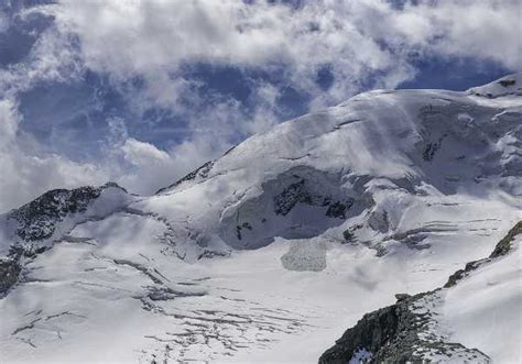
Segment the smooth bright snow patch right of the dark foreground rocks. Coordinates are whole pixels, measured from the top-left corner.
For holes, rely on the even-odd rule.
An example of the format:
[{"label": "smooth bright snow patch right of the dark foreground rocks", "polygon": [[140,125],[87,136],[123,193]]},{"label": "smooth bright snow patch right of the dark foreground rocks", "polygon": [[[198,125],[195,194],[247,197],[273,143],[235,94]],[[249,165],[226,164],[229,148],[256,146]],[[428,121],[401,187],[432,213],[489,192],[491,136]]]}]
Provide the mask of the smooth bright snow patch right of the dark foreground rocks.
[{"label": "smooth bright snow patch right of the dark foreground rocks", "polygon": [[522,359],[522,234],[511,244],[509,255],[448,289],[438,310],[452,340],[480,348],[496,363]]}]

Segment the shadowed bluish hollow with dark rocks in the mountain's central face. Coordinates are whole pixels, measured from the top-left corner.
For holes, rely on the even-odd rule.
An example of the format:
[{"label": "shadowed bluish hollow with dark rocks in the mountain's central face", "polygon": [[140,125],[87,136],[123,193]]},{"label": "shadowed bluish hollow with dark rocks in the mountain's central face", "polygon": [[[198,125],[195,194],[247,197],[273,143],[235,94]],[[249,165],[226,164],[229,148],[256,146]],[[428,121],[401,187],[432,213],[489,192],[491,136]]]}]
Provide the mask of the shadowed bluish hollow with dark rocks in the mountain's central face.
[{"label": "shadowed bluish hollow with dark rocks in the mountain's central face", "polygon": [[367,176],[344,180],[308,166],[291,168],[263,183],[260,195],[239,198],[233,212],[222,213],[221,239],[236,249],[257,249],[275,236],[315,236],[374,203],[366,181]]}]

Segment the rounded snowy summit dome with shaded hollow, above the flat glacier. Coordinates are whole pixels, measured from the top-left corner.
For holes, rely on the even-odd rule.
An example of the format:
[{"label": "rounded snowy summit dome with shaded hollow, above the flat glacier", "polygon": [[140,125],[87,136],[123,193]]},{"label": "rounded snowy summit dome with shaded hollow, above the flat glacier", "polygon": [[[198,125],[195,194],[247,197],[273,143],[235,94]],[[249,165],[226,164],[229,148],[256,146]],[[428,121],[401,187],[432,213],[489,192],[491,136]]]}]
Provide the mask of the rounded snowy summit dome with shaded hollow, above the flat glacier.
[{"label": "rounded snowy summit dome with shaded hollow, above the flat glacier", "polygon": [[[199,239],[255,249],[362,216],[354,234],[376,241],[428,196],[508,201],[522,194],[519,78],[468,92],[359,95],[249,139],[139,208],[189,220]],[[494,98],[477,96],[486,91]]]}]

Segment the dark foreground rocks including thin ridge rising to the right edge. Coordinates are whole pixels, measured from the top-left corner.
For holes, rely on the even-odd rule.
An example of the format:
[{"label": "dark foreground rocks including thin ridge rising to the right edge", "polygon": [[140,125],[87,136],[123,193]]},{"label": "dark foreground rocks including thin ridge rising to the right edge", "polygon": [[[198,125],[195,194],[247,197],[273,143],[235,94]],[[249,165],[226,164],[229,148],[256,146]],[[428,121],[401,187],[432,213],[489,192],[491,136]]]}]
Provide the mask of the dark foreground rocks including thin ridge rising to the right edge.
[{"label": "dark foreground rocks including thin ridge rising to the right edge", "polygon": [[[508,232],[489,257],[468,263],[449,277],[444,288],[455,286],[479,266],[508,254],[512,249],[510,243],[519,234],[522,234],[522,221]],[[490,362],[479,350],[448,342],[447,338],[431,330],[437,324],[433,308],[441,300],[441,291],[442,288],[437,288],[415,296],[396,295],[395,305],[365,315],[320,356],[319,363],[351,363],[352,360],[358,363],[424,363],[433,357],[438,361]],[[365,353],[362,360],[361,352]]]}]

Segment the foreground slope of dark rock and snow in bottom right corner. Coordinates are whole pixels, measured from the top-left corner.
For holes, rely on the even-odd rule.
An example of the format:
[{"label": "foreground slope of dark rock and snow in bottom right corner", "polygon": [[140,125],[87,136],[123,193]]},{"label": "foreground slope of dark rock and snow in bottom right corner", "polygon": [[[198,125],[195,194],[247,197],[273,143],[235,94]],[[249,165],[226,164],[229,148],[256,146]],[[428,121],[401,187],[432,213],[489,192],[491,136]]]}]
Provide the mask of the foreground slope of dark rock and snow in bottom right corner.
[{"label": "foreground slope of dark rock and snow in bottom right corner", "polygon": [[366,315],[319,363],[520,363],[521,242],[522,221],[443,288],[398,295],[395,305]]}]

